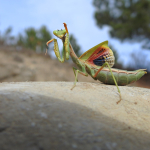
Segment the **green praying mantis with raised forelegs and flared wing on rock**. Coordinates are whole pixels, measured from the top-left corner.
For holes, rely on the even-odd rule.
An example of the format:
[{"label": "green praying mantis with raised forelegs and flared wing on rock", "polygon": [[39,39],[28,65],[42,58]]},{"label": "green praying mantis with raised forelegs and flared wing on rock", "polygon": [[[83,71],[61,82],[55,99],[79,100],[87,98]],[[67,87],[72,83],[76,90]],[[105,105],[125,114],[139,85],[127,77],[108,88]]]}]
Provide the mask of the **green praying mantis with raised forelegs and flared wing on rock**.
[{"label": "green praying mantis with raised forelegs and flared wing on rock", "polygon": [[48,50],[48,45],[52,41],[54,41],[54,52],[58,60],[63,63],[69,59],[69,55],[72,58],[72,61],[77,65],[78,69],[73,67],[73,72],[75,74],[75,82],[71,90],[76,86],[76,82],[78,81],[78,73],[88,76],[88,74],[94,79],[103,82],[104,84],[116,85],[118,93],[119,93],[119,101],[122,97],[121,92],[118,85],[127,85],[139,80],[144,74],[147,72],[146,69],[139,69],[135,71],[127,71],[114,69],[113,67],[115,63],[115,57],[113,51],[108,47],[108,41],[104,41],[85,53],[83,53],[80,57],[77,57],[71,43],[69,42],[69,32],[67,28],[67,24],[63,23],[65,29],[54,30],[53,34],[60,38],[63,42],[63,53],[62,57],[60,56],[60,51],[57,43],[57,39],[53,38],[46,43]]}]

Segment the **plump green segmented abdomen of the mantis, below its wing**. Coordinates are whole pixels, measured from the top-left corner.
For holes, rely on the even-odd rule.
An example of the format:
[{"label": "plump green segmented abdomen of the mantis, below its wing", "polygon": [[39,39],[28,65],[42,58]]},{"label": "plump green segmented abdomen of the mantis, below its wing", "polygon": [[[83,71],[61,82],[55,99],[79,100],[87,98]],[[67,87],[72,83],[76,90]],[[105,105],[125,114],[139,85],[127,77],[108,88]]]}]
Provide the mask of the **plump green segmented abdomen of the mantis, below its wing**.
[{"label": "plump green segmented abdomen of the mantis, below its wing", "polygon": [[[119,69],[111,69],[111,70],[118,85],[127,85],[130,83],[134,83],[146,73],[142,69],[135,70],[135,71],[126,71],[126,70],[119,70]],[[112,85],[115,84],[109,69],[104,68],[102,71],[100,71],[96,79],[105,84],[112,84]]]}]

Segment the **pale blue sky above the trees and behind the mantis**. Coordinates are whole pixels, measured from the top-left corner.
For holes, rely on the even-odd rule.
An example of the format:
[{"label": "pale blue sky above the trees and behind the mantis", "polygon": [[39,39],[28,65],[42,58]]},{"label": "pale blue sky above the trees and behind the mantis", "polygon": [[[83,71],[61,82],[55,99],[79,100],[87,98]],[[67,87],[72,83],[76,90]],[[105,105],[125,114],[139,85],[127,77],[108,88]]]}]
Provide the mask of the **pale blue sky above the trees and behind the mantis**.
[{"label": "pale blue sky above the trees and behind the mantis", "polygon": [[[108,40],[118,50],[119,61],[130,65],[132,59],[130,54],[133,51],[140,51],[140,45],[130,42],[121,43],[112,39],[108,34],[109,27],[100,29],[96,26],[94,11],[92,0],[0,0],[0,31],[3,33],[11,26],[13,35],[17,35],[28,27],[38,29],[46,25],[52,32],[64,28],[63,22],[65,22],[83,52]],[[60,42],[59,46],[62,46]],[[150,52],[144,51],[144,53],[149,55]],[[150,55],[147,59],[150,60]]]}]

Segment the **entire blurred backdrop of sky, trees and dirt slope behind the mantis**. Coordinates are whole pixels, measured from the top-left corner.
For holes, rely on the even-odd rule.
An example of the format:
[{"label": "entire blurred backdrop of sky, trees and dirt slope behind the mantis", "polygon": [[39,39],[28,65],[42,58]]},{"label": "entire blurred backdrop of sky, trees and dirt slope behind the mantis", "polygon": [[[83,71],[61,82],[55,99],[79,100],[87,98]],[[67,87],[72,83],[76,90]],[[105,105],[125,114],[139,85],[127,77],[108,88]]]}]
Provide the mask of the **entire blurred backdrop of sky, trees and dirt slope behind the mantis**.
[{"label": "entire blurred backdrop of sky, trees and dirt slope behind the mantis", "polygon": [[[149,0],[0,0],[0,82],[74,81],[74,64],[60,63],[53,43],[45,56],[45,43],[65,22],[78,56],[108,40],[114,68],[147,69],[133,86],[150,88],[149,14]],[[96,82],[82,75],[79,81]]]}]

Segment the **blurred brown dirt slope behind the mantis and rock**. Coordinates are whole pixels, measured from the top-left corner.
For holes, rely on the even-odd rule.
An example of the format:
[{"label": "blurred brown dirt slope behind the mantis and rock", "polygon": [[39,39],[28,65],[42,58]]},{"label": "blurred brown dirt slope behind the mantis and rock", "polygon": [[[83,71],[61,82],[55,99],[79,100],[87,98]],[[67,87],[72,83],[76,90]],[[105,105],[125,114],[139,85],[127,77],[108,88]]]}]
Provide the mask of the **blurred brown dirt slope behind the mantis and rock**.
[{"label": "blurred brown dirt slope behind the mantis and rock", "polygon": [[[21,81],[74,81],[73,63],[60,63],[44,53],[0,47],[0,82]],[[90,76],[78,76],[80,82],[94,81]],[[144,78],[130,86],[150,88]]]}]

